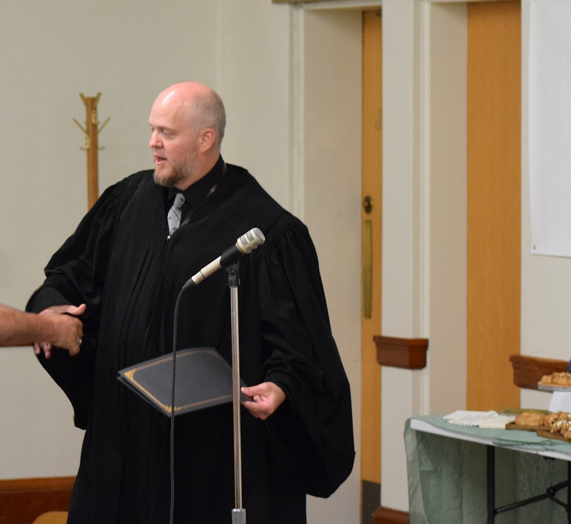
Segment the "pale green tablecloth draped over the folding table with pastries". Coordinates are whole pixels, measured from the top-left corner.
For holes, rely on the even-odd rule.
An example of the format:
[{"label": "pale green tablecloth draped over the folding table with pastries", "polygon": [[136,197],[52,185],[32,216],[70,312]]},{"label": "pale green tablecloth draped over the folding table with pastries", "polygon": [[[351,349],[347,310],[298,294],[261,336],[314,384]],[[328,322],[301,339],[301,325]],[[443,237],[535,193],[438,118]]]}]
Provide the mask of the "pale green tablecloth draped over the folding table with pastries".
[{"label": "pale green tablecloth draped over the folding table with pastries", "polygon": [[[567,477],[567,462],[501,446],[569,455],[571,444],[537,437],[534,432],[457,426],[442,416],[414,417],[437,428],[490,439],[496,446],[496,507],[545,493]],[[411,524],[482,524],[486,522],[486,446],[411,429],[404,432],[407,451]],[[567,490],[558,493],[566,501]],[[566,523],[566,511],[541,501],[496,516],[496,524]]]}]

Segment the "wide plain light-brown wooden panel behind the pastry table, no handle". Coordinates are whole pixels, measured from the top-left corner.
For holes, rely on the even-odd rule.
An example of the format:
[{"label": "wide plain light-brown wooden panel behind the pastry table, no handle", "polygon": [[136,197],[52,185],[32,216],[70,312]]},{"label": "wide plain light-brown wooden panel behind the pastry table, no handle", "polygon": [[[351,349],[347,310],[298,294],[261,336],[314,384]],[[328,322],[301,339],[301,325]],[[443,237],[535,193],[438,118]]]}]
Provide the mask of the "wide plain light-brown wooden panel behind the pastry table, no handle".
[{"label": "wide plain light-brown wooden panel behind the pastry table, no handle", "polygon": [[468,5],[468,409],[519,406],[521,6]]}]

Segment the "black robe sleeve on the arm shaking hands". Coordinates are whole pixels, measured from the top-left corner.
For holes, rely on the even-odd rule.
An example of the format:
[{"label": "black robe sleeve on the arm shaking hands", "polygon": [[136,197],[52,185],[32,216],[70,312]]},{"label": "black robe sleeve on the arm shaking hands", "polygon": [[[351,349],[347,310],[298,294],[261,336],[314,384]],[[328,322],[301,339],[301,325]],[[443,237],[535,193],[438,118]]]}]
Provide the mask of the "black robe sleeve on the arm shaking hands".
[{"label": "black robe sleeve on the arm shaking hands", "polygon": [[50,305],[87,305],[81,316],[83,342],[77,356],[53,348],[42,366],[63,389],[74,408],[74,422],[85,429],[93,389],[94,356],[99,329],[99,312],[123,180],[103,192],[77,229],[51,257],[45,268],[46,280],[34,292],[26,311],[39,313]]}]

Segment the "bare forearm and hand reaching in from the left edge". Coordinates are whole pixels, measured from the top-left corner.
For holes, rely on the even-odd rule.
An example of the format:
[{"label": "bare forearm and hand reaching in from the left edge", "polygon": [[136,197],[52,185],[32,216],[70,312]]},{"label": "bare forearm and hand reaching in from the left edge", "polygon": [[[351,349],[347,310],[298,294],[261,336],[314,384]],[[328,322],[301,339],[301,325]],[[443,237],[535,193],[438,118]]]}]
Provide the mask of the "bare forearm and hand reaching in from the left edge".
[{"label": "bare forearm and hand reaching in from the left edge", "polygon": [[[74,309],[73,315],[81,315],[85,304]],[[70,315],[36,315],[25,313],[0,304],[0,345],[23,346],[37,340],[46,340],[42,344],[51,344],[69,350],[70,354],[79,352],[79,341],[83,336],[81,320]],[[34,343],[35,345],[35,343]]]}]

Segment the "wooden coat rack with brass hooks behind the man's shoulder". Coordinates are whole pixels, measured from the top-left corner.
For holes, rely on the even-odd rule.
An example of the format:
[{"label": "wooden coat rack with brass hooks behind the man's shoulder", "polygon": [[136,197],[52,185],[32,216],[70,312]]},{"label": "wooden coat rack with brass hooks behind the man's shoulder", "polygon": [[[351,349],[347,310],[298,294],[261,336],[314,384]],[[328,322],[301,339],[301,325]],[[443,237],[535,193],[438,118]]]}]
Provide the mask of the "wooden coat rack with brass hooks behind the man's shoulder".
[{"label": "wooden coat rack with brass hooks behind the man's shoulder", "polygon": [[98,128],[97,103],[101,93],[98,93],[97,96],[84,96],[83,93],[79,93],[79,96],[85,104],[85,128],[75,118],[73,121],[85,134],[85,148],[82,147],[81,149],[87,152],[87,209],[91,209],[99,198],[98,151],[102,150],[103,147],[98,145],[98,134],[110,119],[105,120]]}]

